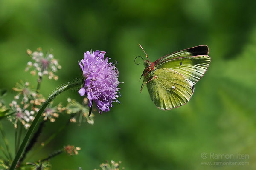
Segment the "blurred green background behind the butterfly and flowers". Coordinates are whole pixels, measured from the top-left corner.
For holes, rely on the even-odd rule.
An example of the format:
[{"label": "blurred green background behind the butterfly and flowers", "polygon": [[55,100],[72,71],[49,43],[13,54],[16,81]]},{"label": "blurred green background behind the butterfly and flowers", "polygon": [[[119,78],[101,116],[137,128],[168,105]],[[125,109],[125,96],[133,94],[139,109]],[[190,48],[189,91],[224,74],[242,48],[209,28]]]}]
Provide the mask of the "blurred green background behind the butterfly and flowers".
[{"label": "blurred green background behind the butterfly and flowers", "polygon": [[[122,161],[127,170],[254,170],[256,169],[256,1],[254,0],[0,0],[0,88],[12,101],[15,82],[36,77],[24,72],[29,48],[52,48],[62,69],[58,81],[43,78],[41,93],[48,96],[62,83],[80,76],[78,60],[90,49],[107,51],[118,61],[121,104],[108,113],[95,113],[95,124],[70,124],[30,161],[47,157],[71,144],[78,156],[61,154],[50,162],[53,170],[98,168],[104,160]],[[195,85],[188,104],[161,111],[146,88],[140,94],[144,66],[151,61],[196,45],[208,45],[212,61]],[[81,101],[74,91],[67,97]],[[63,114],[48,123],[39,138],[44,142],[66,123]],[[13,125],[3,121],[9,142]],[[3,142],[1,141],[1,144]],[[201,158],[201,153],[208,158]],[[234,159],[212,159],[209,153],[233,154]],[[236,154],[249,159],[236,159]],[[249,162],[246,166],[204,166],[201,162]]]}]

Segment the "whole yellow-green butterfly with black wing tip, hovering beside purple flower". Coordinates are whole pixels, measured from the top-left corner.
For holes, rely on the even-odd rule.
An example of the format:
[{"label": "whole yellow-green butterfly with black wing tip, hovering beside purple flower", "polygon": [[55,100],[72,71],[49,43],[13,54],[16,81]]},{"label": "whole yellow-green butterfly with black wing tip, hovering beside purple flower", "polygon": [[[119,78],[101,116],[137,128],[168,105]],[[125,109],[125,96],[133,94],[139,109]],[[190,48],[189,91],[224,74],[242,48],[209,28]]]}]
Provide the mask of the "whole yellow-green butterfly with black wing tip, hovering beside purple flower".
[{"label": "whole yellow-green butterfly with black wing tip, hovering beside purple flower", "polygon": [[[141,45],[140,48],[143,50]],[[147,60],[144,60],[145,69],[140,77],[144,77],[140,92],[147,85],[151,100],[162,110],[185,105],[194,93],[195,83],[207,71],[211,62],[208,54],[206,45],[180,50],[155,62],[150,62],[145,53]]]}]

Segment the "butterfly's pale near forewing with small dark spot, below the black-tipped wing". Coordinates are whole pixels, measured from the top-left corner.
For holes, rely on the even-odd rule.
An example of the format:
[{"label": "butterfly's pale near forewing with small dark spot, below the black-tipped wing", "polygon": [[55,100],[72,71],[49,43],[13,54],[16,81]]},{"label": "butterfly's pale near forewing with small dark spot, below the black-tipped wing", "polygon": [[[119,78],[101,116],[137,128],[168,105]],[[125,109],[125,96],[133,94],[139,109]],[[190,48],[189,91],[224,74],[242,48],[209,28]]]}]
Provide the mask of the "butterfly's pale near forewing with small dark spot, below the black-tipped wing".
[{"label": "butterfly's pale near forewing with small dark spot, below the black-tipped wing", "polygon": [[169,68],[177,71],[189,81],[191,86],[193,86],[204,75],[210,62],[211,58],[206,55],[180,57],[159,62],[155,66],[155,69]]}]

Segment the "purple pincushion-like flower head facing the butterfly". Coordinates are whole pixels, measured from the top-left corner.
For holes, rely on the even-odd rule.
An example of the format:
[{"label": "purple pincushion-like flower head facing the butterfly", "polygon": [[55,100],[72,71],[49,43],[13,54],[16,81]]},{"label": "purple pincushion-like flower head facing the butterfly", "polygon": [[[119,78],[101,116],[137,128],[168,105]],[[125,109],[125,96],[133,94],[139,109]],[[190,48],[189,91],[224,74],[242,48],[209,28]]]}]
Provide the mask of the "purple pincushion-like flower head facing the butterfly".
[{"label": "purple pincushion-like flower head facing the butterfly", "polygon": [[98,111],[108,112],[112,107],[112,102],[118,100],[117,91],[120,89],[116,66],[108,63],[108,57],[104,59],[105,51],[87,51],[84,53],[84,59],[79,63],[85,78],[84,87],[79,90],[79,94],[87,94],[89,107],[92,102],[96,103]]}]

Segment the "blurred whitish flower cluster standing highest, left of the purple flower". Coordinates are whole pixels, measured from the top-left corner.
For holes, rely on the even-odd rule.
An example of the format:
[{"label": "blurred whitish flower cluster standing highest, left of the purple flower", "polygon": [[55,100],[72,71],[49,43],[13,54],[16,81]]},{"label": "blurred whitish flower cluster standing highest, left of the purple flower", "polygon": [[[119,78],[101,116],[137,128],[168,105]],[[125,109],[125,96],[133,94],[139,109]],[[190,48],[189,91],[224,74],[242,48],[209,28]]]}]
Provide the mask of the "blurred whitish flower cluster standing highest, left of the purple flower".
[{"label": "blurred whitish flower cluster standing highest, left of the purple flower", "polygon": [[32,75],[38,74],[40,77],[43,75],[48,75],[49,79],[58,79],[58,76],[54,75],[54,73],[58,69],[61,69],[61,65],[58,64],[58,60],[54,59],[50,52],[44,56],[42,49],[38,48],[35,52],[27,50],[27,54],[29,54],[29,56],[31,56],[34,61],[28,62],[25,71],[28,71],[30,68],[34,68],[30,72]]}]

